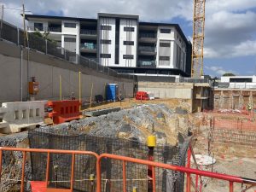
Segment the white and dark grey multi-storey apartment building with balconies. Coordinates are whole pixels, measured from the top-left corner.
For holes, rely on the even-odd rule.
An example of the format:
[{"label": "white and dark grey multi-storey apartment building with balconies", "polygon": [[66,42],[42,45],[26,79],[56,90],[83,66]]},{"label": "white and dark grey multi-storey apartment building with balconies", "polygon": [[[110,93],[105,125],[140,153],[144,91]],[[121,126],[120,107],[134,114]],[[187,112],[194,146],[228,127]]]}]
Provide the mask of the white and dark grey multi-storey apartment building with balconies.
[{"label": "white and dark grey multi-storey apartment building with balconies", "polygon": [[64,49],[120,73],[190,73],[191,44],[177,24],[105,13],[97,19],[26,15],[26,20],[29,32],[49,32]]}]

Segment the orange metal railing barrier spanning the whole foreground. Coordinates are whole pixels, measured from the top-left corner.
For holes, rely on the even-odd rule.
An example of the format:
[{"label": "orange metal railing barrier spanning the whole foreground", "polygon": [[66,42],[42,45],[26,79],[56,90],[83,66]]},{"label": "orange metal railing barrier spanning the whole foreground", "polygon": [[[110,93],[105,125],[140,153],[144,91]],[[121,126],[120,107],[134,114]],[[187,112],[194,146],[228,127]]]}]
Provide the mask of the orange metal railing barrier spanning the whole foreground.
[{"label": "orange metal railing barrier spanning the whole foreground", "polygon": [[[121,172],[119,172],[119,177],[120,181],[122,182],[122,185],[119,190],[117,191],[127,191],[126,186],[127,186],[127,174],[130,172],[129,166],[127,166],[128,163],[133,163],[134,165],[143,165],[150,167],[152,170],[152,177],[148,178],[152,184],[152,189],[150,191],[156,192],[156,183],[157,183],[157,178],[155,174],[156,168],[160,168],[163,170],[170,170],[174,172],[183,172],[187,174],[187,192],[191,192],[190,186],[195,186],[195,183],[192,182],[192,177],[191,175],[195,175],[196,178],[199,177],[212,177],[212,178],[217,178],[221,179],[224,181],[228,181],[230,184],[230,192],[234,192],[234,183],[247,183],[250,185],[256,185],[256,180],[254,179],[249,179],[245,177],[236,177],[236,176],[231,176],[231,175],[226,175],[226,174],[220,174],[216,172],[206,172],[206,171],[201,171],[198,169],[192,169],[190,167],[190,157],[191,154],[193,154],[193,150],[189,150],[188,153],[188,162],[187,162],[187,167],[184,166],[172,166],[170,164],[164,164],[164,163],[159,163],[159,162],[154,162],[151,160],[140,160],[140,159],[135,159],[131,157],[125,157],[125,156],[120,156],[116,154],[101,154],[98,155],[96,153],[90,152],[90,151],[73,151],[73,150],[56,150],[56,149],[39,149],[39,148],[0,148],[0,172],[2,172],[2,157],[3,157],[3,151],[20,151],[22,152],[22,174],[21,174],[21,184],[20,184],[20,191],[24,191],[25,187],[25,166],[26,166],[26,153],[31,152],[31,153],[46,153],[47,154],[47,165],[46,165],[46,174],[45,174],[45,185],[44,183],[39,183],[39,188],[43,189],[44,191],[44,186],[46,186],[46,192],[56,192],[56,191],[68,191],[72,192],[73,191],[73,177],[74,177],[74,164],[75,164],[75,156],[76,154],[84,154],[84,155],[92,155],[96,158],[96,190],[92,189],[91,191],[96,191],[96,192],[102,192],[102,160],[119,160],[122,162],[122,168]],[[192,153],[191,153],[192,152]],[[69,189],[54,189],[54,188],[49,188],[47,185],[49,183],[49,157],[50,154],[71,154],[72,155],[72,163],[71,163],[71,178],[70,178],[70,188]],[[70,165],[67,165],[70,166]],[[90,168],[90,167],[88,167]],[[1,175],[2,177],[2,175]],[[0,177],[0,182],[1,182],[1,177]],[[99,182],[101,181],[101,182]],[[33,183],[34,186],[35,183]],[[38,192],[43,192],[43,191],[38,191]],[[141,191],[141,190],[140,190]],[[201,191],[198,189],[198,186],[195,186],[195,191]],[[34,191],[33,191],[34,192]]]}]

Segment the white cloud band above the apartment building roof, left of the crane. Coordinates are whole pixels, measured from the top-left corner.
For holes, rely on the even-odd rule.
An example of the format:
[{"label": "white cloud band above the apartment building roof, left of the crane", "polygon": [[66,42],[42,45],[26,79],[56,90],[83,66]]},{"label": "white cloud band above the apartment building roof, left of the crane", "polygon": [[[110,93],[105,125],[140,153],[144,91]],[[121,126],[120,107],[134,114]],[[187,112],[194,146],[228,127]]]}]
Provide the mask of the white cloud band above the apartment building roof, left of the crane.
[{"label": "white cloud band above the apartment building roof, left of the crane", "polygon": [[[3,0],[13,7],[20,7],[23,1]],[[34,14],[61,11],[66,16],[96,18],[98,12],[140,15],[141,20],[172,20],[174,17],[190,19],[193,2],[190,0],[25,0],[26,9]],[[190,6],[188,6],[190,5]],[[189,13],[189,14],[188,14]]]}]

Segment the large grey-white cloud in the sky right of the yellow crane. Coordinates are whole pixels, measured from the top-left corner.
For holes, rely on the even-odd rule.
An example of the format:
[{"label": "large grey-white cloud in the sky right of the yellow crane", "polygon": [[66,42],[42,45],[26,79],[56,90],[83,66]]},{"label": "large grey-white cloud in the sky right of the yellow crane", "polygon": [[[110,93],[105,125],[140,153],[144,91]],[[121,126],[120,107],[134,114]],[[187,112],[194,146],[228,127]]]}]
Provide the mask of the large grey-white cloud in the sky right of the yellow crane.
[{"label": "large grey-white cloud in the sky right of the yellow crane", "polygon": [[206,58],[256,55],[256,13],[248,10],[256,8],[256,1],[240,2],[224,1],[224,5],[215,5],[212,1],[207,1],[213,5],[206,16]]}]

